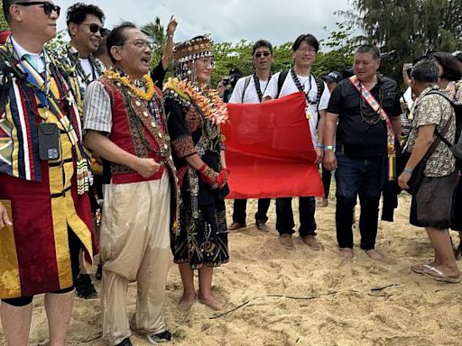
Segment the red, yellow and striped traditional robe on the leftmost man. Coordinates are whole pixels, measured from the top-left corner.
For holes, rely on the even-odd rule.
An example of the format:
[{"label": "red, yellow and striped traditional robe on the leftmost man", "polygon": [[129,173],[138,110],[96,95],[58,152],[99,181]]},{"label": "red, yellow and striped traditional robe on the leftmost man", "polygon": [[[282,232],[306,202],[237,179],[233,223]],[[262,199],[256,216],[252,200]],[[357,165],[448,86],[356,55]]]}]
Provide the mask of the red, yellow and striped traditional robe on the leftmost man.
[{"label": "red, yellow and striped traditional robe on the leftmost man", "polygon": [[[73,285],[69,232],[88,261],[97,247],[88,200],[88,159],[69,76],[44,51],[45,72],[19,60],[11,37],[0,46],[0,200],[13,226],[0,230],[0,297],[32,296]],[[60,159],[39,158],[38,124],[55,123]]]}]

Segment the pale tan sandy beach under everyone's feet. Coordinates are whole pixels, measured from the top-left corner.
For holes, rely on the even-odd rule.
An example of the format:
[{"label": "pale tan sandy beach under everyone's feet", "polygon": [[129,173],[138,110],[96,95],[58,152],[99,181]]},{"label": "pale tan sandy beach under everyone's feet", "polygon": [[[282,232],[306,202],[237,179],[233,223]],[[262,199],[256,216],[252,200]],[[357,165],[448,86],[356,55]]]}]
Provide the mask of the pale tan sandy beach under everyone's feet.
[{"label": "pale tan sandy beach under everyone's feet", "polygon": [[[411,272],[411,265],[432,259],[426,232],[408,223],[410,196],[402,194],[395,222],[380,222],[377,250],[386,259],[375,262],[356,248],[353,259],[340,259],[335,232],[335,200],[318,208],[319,241],[324,251],[310,250],[298,234],[295,249],[285,250],[274,229],[254,227],[256,201],[247,206],[248,226],[229,235],[231,261],[216,269],[214,290],[226,301],[218,316],[197,303],[178,309],[180,274],[172,263],[166,319],[173,333],[170,345],[252,346],[443,346],[462,344],[460,284],[444,284]],[[294,212],[298,203],[294,204]],[[231,222],[232,202],[227,202]],[[296,223],[298,214],[296,215]],[[453,238],[457,240],[456,233]],[[358,244],[359,232],[355,231]],[[458,241],[458,240],[457,240]],[[461,265],[461,261],[458,262]],[[99,281],[97,290],[99,291]],[[136,285],[128,292],[134,312]],[[43,298],[34,299],[31,345],[47,344]],[[236,309],[235,311],[231,311]],[[227,314],[226,314],[227,313]],[[0,340],[3,340],[0,329]],[[149,345],[132,336],[134,345]],[[5,341],[0,341],[5,345]],[[76,299],[69,345],[103,346],[99,300]]]}]

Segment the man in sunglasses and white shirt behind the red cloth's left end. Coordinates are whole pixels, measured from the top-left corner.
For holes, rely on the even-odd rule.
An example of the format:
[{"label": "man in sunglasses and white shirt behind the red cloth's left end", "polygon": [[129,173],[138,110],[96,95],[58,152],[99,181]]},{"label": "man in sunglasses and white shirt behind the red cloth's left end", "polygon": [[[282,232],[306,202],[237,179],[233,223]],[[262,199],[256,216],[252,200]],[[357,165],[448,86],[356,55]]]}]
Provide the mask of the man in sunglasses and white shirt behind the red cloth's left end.
[{"label": "man in sunglasses and white shirt behind the red cloth's left end", "polygon": [[[229,99],[231,104],[259,104],[262,102],[263,94],[268,87],[271,79],[271,65],[273,63],[273,45],[269,41],[259,40],[254,43],[252,48],[252,63],[254,64],[254,74],[240,78],[233,94]],[[231,119],[232,121],[232,119]],[[255,131],[258,131],[255,129]],[[258,200],[258,210],[255,214],[256,227],[264,232],[268,231],[266,222],[268,221],[268,208],[270,198],[260,198]],[[245,209],[246,199],[236,199],[233,210],[233,223],[229,226],[230,231],[236,231],[246,226]]]}]

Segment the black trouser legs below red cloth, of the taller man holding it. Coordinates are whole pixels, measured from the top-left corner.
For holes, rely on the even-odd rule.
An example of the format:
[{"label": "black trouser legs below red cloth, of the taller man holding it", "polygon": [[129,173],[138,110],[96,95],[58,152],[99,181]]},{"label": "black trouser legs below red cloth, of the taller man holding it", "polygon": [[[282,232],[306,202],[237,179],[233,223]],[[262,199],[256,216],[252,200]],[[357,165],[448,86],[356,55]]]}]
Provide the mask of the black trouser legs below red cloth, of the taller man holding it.
[{"label": "black trouser legs below red cloth, of the taller man holding it", "polygon": [[[299,197],[300,236],[316,235],[315,197]],[[294,233],[292,197],[276,198],[276,230],[280,234]]]}]

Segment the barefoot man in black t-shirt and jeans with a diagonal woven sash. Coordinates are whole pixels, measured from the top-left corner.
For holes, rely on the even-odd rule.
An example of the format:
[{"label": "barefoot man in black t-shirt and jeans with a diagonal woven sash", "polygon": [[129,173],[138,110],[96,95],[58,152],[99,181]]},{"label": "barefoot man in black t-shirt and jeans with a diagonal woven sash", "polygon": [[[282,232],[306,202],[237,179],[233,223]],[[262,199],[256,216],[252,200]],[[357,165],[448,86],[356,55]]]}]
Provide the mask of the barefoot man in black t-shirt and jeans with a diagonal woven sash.
[{"label": "barefoot man in black t-shirt and jeans with a diagonal woven sash", "polygon": [[386,174],[387,160],[395,155],[394,133],[401,133],[401,105],[397,83],[379,75],[379,67],[377,47],[358,47],[355,75],[338,84],[328,105],[324,166],[336,170],[337,241],[345,259],[353,256],[357,196],[361,204],[360,248],[371,259],[383,259],[375,250],[379,200],[385,179],[394,178]]}]

